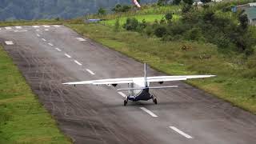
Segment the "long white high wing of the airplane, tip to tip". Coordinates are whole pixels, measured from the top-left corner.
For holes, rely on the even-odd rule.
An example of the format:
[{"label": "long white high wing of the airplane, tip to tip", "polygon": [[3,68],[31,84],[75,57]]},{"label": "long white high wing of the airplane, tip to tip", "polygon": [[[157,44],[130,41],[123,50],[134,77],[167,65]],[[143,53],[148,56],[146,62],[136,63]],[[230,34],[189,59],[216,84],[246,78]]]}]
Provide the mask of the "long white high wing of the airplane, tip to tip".
[{"label": "long white high wing of the airplane, tip to tip", "polygon": [[[157,77],[146,77],[147,82],[167,82],[167,81],[186,81],[187,79],[193,78],[210,78],[215,77],[215,75],[184,75],[184,76],[157,76]],[[64,85],[114,85],[114,84],[123,84],[123,83],[134,83],[134,79],[141,78],[110,78],[110,79],[100,79],[92,81],[82,81],[82,82],[66,82]]]}]

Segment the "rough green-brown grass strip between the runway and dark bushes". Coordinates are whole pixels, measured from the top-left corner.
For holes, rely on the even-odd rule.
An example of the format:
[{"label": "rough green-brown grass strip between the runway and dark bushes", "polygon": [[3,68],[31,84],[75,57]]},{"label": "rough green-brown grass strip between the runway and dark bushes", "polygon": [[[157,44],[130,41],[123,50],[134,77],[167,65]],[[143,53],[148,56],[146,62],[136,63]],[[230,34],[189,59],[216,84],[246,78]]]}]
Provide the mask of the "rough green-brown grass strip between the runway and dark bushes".
[{"label": "rough green-brown grass strip between the runway and dark bushes", "polygon": [[[162,42],[158,38],[147,38],[136,32],[114,32],[112,27],[100,24],[67,26],[113,50],[140,62],[147,62],[166,74],[216,74],[217,78],[188,82],[256,114],[256,79],[253,78],[256,71],[232,63],[239,56],[231,57],[234,59],[225,57],[218,53],[217,46],[208,43]],[[184,51],[182,46],[190,46],[191,49]],[[249,59],[254,63],[256,54]]]}]

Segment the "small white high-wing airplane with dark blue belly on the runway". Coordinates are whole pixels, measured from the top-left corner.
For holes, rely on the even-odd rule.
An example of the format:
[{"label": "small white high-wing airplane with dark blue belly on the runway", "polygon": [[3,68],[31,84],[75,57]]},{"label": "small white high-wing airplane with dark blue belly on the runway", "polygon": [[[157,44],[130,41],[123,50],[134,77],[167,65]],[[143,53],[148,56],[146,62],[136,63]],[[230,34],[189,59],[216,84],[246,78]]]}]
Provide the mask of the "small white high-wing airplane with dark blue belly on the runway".
[{"label": "small white high-wing airplane with dark blue belly on the runway", "polygon": [[82,81],[82,82],[66,82],[62,83],[64,85],[112,85],[118,86],[118,84],[128,84],[128,88],[118,89],[118,90],[128,90],[129,95],[126,96],[124,100],[124,106],[126,106],[127,102],[133,101],[148,101],[153,99],[155,104],[158,104],[156,96],[154,94],[150,94],[150,89],[166,89],[166,88],[177,88],[178,86],[151,86],[150,82],[159,82],[162,84],[163,82],[168,81],[185,81],[187,79],[193,78],[210,78],[215,77],[215,75],[180,75],[180,76],[157,76],[157,77],[147,77],[146,63],[144,64],[144,77],[140,78],[110,78],[110,79],[100,79],[100,80],[92,80],[92,81]]}]

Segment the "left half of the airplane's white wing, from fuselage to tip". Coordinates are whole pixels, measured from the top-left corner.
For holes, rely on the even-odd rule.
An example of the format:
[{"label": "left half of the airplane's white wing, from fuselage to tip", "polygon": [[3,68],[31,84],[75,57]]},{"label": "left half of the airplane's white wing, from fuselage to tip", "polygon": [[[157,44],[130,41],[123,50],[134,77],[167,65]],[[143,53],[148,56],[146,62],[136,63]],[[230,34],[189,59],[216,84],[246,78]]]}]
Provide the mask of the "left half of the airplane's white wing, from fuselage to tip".
[{"label": "left half of the airplane's white wing, from fuselage to tip", "polygon": [[116,85],[122,83],[132,83],[133,78],[110,78],[110,79],[100,79],[92,81],[82,81],[82,82],[66,82],[62,83],[64,85]]}]

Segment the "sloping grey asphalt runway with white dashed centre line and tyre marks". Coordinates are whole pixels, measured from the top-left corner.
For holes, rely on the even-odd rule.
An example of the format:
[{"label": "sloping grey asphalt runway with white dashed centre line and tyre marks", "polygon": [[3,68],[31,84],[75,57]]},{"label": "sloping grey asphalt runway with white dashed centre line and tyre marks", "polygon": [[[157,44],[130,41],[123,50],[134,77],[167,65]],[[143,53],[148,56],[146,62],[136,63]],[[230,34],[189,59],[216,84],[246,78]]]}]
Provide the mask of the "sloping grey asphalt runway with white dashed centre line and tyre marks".
[{"label": "sloping grey asphalt runway with white dashed centre line and tyre marks", "polygon": [[[256,116],[183,82],[128,102],[113,86],[62,82],[143,76],[143,64],[65,26],[1,27],[0,42],[74,143],[253,144]],[[165,75],[150,69],[150,76]],[[158,86],[158,84],[155,84]],[[118,86],[126,87],[126,85]]]}]

